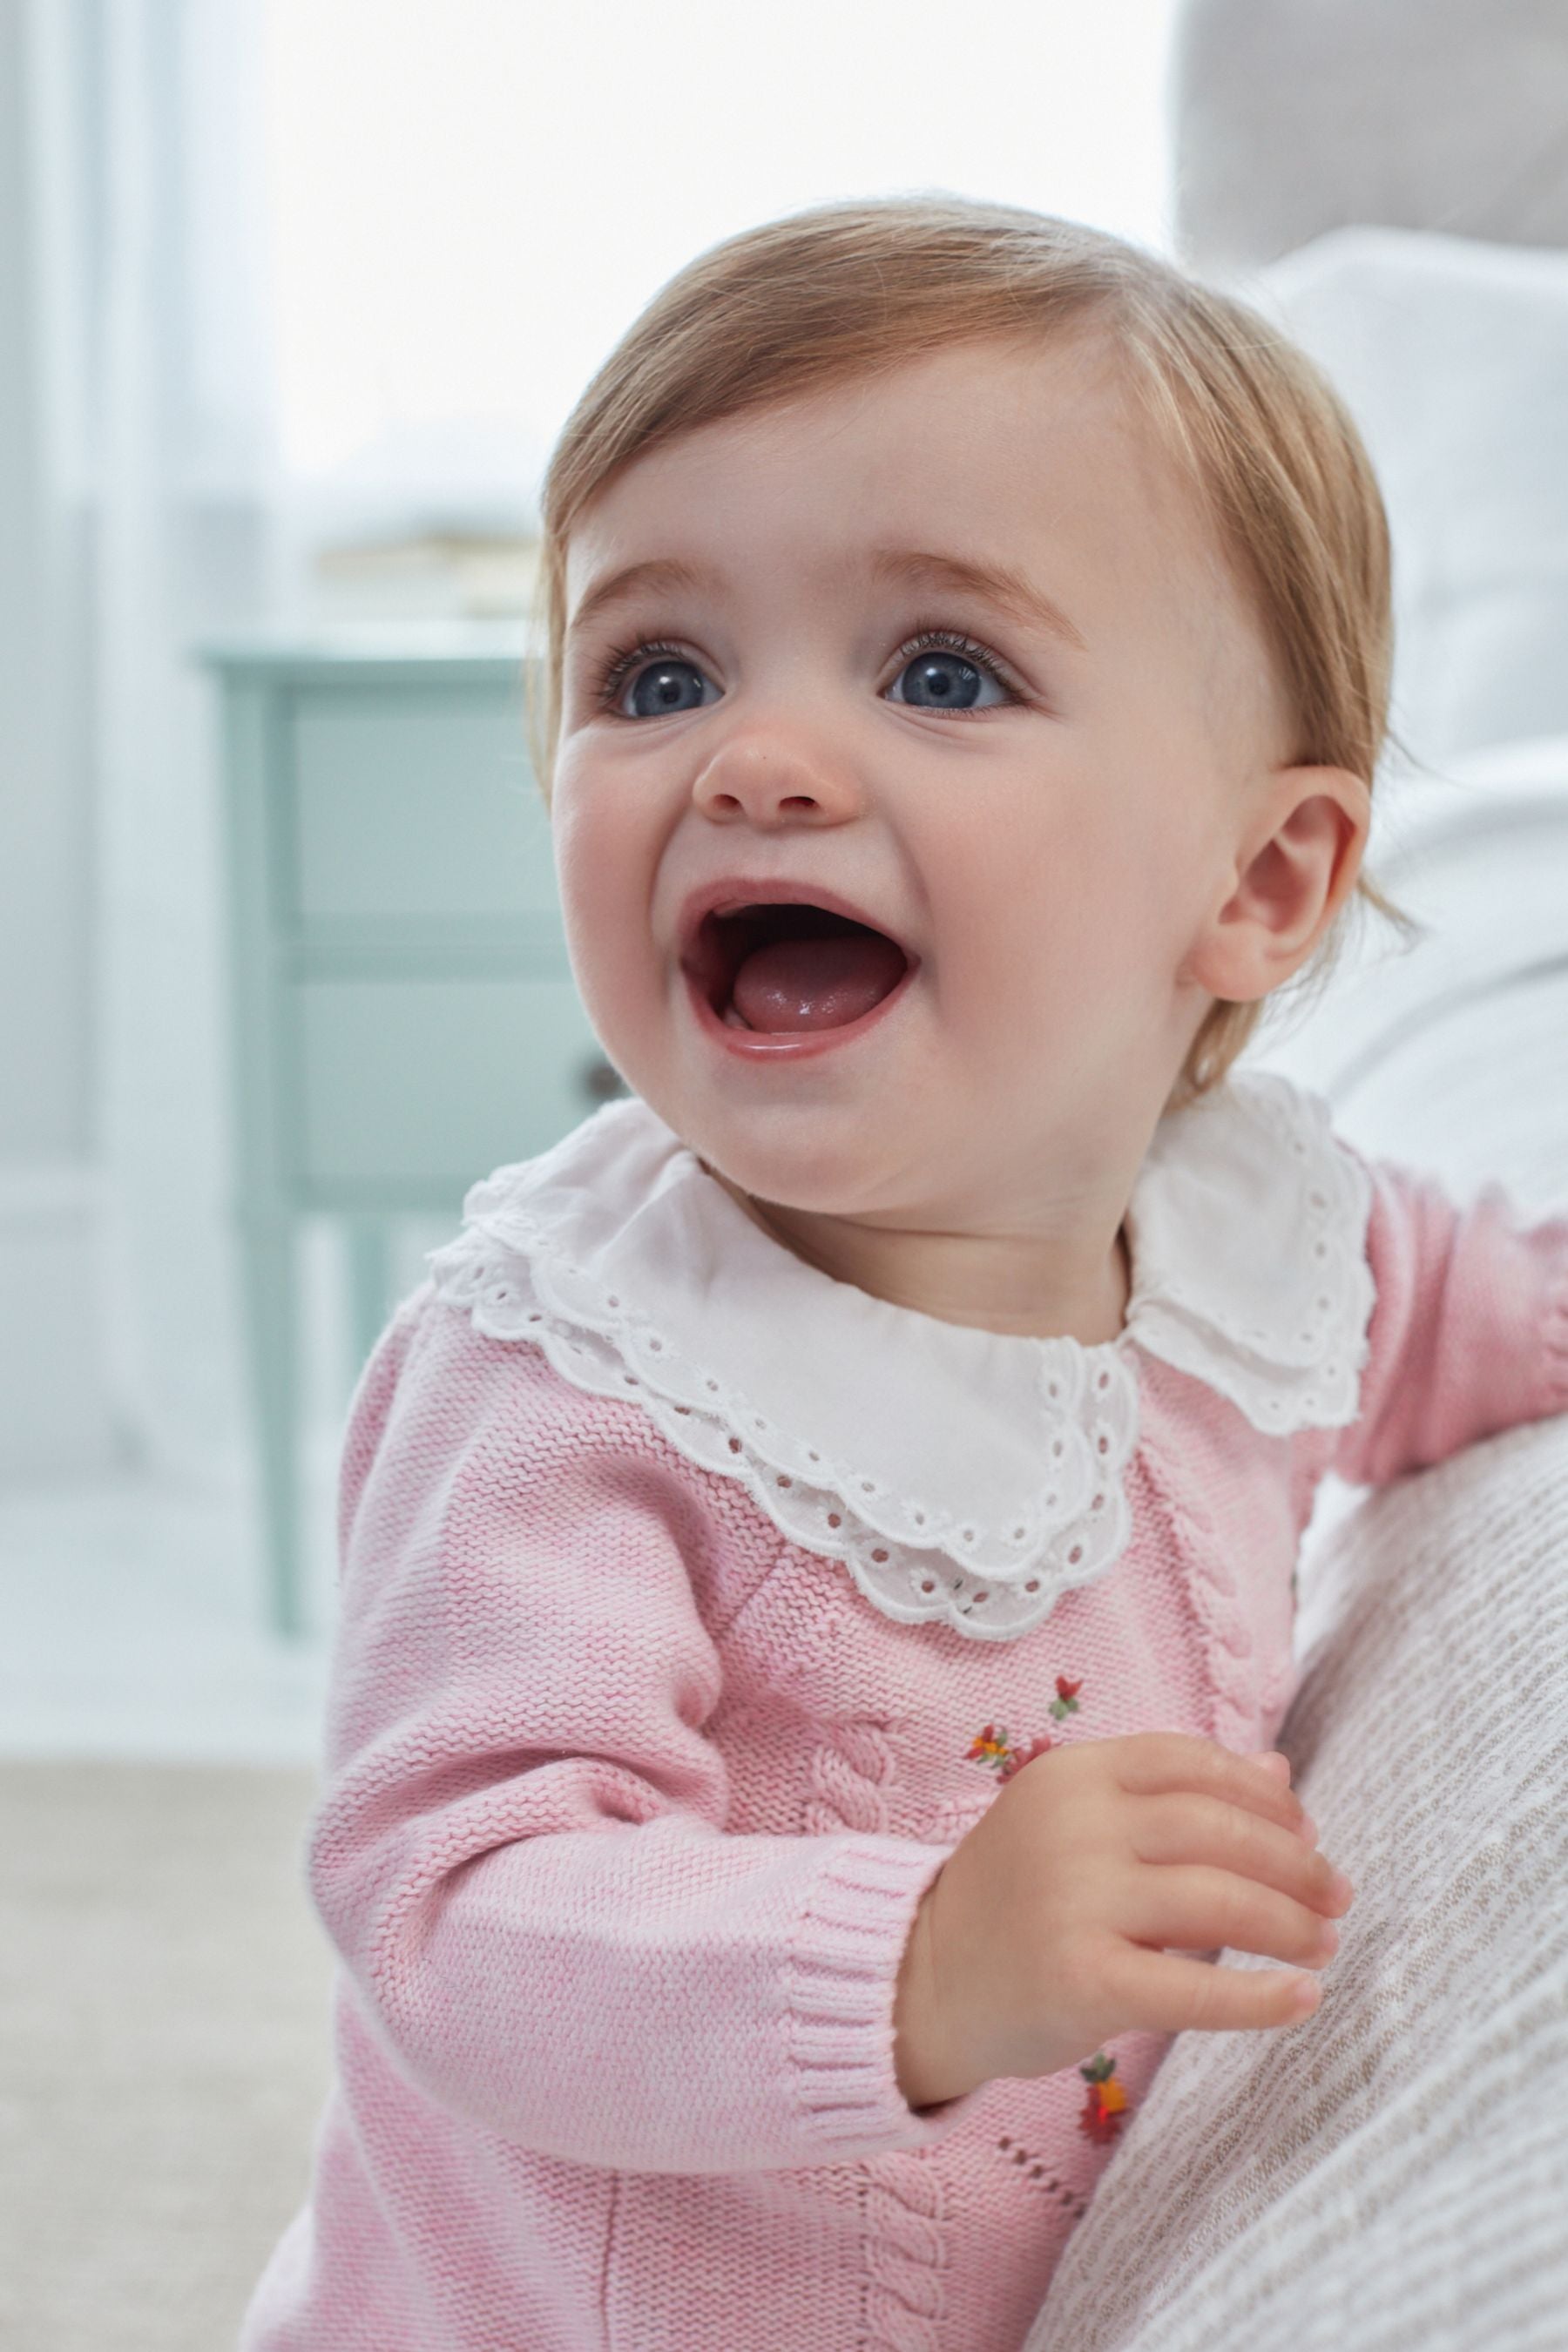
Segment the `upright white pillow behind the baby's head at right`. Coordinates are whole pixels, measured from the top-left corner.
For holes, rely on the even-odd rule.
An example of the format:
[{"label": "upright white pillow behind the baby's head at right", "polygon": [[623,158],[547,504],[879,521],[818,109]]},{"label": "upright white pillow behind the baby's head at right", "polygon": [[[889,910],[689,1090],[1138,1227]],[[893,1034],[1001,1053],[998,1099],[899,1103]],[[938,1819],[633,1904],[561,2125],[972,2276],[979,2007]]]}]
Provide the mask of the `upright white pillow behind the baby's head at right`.
[{"label": "upright white pillow behind the baby's head at right", "polygon": [[1415,757],[1568,729],[1568,252],[1340,228],[1218,282],[1319,360],[1368,445]]}]

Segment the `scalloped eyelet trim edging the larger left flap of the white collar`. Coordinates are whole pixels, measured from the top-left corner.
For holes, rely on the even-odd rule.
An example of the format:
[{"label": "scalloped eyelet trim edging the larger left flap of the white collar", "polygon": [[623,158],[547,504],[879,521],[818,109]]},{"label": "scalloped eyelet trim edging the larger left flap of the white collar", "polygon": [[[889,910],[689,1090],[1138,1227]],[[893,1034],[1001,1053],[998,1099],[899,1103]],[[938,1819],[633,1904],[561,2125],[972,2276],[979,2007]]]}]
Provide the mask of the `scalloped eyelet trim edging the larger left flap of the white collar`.
[{"label": "scalloped eyelet trim edging the larger left flap of the white collar", "polygon": [[[1121,1472],[1138,1437],[1138,1381],[1114,1345],[1079,1348],[1079,1359],[1063,1367],[1041,1364],[1060,1470],[1041,1510],[1004,1531],[1016,1559],[966,1566],[990,1529],[947,1522],[773,1428],[618,1296],[602,1294],[588,1319],[581,1294],[595,1284],[552,1261],[543,1237],[529,1258],[470,1225],[430,1251],[430,1268],[437,1296],[463,1308],[475,1331],[531,1341],[574,1388],[637,1402],[686,1461],[738,1479],[780,1534],[842,1559],[865,1599],[898,1623],[945,1618],[978,1642],[1011,1642],[1126,1550]],[[912,1545],[905,1526],[929,1541]]]}]

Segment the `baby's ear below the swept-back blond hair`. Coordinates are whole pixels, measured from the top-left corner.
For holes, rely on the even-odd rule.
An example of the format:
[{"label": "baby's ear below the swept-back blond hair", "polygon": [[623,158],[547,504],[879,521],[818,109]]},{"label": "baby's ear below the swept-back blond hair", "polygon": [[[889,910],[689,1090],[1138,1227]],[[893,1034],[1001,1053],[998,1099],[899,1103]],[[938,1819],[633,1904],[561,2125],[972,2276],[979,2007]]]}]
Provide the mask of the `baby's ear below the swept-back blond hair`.
[{"label": "baby's ear below the swept-back blond hair", "polygon": [[1222,903],[1187,957],[1211,997],[1251,1004],[1307,962],[1356,887],[1371,814],[1345,767],[1276,767],[1246,790]]}]

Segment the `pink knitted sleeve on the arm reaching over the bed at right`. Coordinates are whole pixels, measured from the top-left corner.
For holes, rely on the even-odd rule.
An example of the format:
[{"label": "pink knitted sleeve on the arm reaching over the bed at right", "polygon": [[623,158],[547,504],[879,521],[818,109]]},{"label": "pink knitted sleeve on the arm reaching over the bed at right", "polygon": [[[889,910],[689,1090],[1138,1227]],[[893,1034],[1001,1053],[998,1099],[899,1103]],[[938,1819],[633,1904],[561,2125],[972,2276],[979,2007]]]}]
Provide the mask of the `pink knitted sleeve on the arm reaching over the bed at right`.
[{"label": "pink knitted sleeve on the arm reaching over the bed at right", "polygon": [[1427,1176],[1368,1169],[1375,1308],[1356,1421],[1331,1468],[1382,1484],[1523,1421],[1568,1411],[1568,1216],[1521,1223]]}]

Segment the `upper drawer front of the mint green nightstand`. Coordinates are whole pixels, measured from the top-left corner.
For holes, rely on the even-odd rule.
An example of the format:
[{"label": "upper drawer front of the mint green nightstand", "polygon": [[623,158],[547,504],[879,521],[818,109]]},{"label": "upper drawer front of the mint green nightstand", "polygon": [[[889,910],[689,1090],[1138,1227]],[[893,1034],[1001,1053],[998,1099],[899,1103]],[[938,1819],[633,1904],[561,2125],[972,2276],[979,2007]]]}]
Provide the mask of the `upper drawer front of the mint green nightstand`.
[{"label": "upper drawer front of the mint green nightstand", "polygon": [[515,691],[296,687],[277,724],[284,920],[559,922],[522,675]]}]

